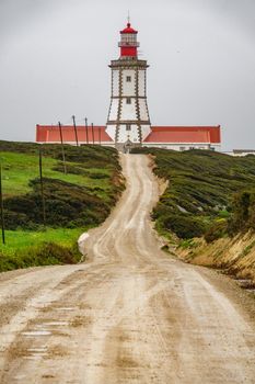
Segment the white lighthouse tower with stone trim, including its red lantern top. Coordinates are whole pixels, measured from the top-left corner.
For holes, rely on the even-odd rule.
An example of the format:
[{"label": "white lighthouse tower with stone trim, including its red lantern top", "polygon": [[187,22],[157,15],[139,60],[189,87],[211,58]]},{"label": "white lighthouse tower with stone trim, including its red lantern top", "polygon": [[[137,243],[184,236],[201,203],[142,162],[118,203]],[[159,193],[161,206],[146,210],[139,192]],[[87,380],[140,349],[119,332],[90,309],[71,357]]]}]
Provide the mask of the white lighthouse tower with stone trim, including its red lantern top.
[{"label": "white lighthouse tower with stone trim, including its red lantern top", "polygon": [[112,97],[106,132],[119,150],[141,146],[151,132],[147,105],[147,60],[138,58],[137,31],[120,31],[120,56],[112,60]]}]

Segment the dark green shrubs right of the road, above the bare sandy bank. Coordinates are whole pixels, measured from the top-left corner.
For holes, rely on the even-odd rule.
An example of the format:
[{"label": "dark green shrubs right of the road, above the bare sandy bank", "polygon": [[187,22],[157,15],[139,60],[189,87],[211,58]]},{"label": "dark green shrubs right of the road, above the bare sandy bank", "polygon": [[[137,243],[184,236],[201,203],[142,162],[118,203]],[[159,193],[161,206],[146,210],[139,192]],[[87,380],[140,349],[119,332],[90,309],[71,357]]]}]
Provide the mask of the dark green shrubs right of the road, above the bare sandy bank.
[{"label": "dark green shrubs right of the road, above the bare sandy bank", "polygon": [[152,213],[160,233],[212,241],[225,234],[255,228],[255,157],[208,150],[177,153],[134,149],[154,157],[154,172],[169,187]]}]

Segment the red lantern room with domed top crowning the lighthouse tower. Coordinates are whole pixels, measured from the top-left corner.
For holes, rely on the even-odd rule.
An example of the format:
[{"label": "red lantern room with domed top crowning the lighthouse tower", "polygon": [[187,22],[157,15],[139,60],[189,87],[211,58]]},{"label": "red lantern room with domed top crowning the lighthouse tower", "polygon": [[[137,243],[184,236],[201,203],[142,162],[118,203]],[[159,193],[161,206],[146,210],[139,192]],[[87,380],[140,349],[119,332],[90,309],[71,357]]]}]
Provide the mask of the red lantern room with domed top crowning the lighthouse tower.
[{"label": "red lantern room with domed top crowning the lighthouse tower", "polygon": [[138,32],[131,27],[128,22],[127,27],[120,31],[121,41],[118,43],[120,47],[120,58],[137,58],[137,48],[140,44],[137,42]]}]

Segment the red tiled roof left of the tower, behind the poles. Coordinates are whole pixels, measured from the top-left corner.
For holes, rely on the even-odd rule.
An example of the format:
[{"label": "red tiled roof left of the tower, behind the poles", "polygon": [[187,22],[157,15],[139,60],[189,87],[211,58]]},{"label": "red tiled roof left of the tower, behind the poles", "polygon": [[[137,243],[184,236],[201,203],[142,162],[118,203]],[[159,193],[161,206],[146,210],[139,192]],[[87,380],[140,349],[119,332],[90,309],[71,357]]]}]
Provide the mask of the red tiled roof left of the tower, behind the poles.
[{"label": "red tiled roof left of the tower, behind the poles", "polygon": [[[77,126],[77,135],[79,142],[86,143],[86,128],[85,126]],[[62,140],[63,143],[76,142],[76,133],[72,125],[62,126]],[[93,143],[92,126],[88,126],[88,140]],[[105,126],[94,126],[94,142],[98,143],[113,142],[112,138],[105,132]],[[57,143],[60,142],[60,132],[57,125],[36,125],[36,142],[37,143]]]}]

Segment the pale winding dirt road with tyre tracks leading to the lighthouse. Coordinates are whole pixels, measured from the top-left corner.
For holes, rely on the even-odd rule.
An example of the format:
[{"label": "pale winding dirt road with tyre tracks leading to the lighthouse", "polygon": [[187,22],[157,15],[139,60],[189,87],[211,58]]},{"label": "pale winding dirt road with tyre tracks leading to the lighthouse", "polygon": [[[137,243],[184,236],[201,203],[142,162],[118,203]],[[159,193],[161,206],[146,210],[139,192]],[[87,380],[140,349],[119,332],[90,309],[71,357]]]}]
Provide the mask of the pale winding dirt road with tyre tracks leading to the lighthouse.
[{"label": "pale winding dirt road with tyre tracks leading to the lighthouse", "polygon": [[0,275],[0,383],[255,383],[253,302],[160,250],[148,159],[123,163],[127,190],[84,239],[90,262]]}]

